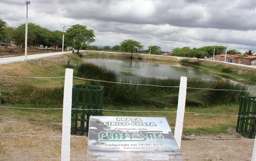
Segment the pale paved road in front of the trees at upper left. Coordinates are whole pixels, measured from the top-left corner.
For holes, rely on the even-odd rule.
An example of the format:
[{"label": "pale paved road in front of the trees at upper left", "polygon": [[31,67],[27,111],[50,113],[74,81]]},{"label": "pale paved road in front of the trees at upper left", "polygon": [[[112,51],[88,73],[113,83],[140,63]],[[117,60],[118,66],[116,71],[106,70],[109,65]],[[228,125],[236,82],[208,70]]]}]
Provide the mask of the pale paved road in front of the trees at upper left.
[{"label": "pale paved road in front of the trees at upper left", "polygon": [[[69,52],[63,52],[65,53],[72,53],[72,51]],[[44,57],[51,57],[54,55],[61,55],[62,52],[50,52],[50,53],[45,53],[45,54],[35,54],[35,55],[27,55],[27,60],[31,59],[38,59],[38,58],[44,58]],[[25,55],[20,56],[20,57],[8,57],[8,58],[0,58],[0,64],[9,64],[13,62],[21,62],[25,61]]]}]

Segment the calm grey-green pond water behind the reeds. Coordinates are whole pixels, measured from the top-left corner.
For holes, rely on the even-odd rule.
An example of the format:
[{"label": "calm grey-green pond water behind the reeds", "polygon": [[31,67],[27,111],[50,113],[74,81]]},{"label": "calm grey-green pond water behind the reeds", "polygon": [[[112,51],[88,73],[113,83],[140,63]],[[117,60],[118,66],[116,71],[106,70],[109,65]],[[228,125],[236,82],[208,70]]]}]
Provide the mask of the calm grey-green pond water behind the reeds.
[{"label": "calm grey-green pond water behind the reeds", "polygon": [[90,62],[99,66],[113,70],[119,79],[138,79],[140,77],[188,77],[202,79],[220,79],[209,71],[203,71],[198,68],[184,66],[179,63],[159,64],[159,62],[148,62],[145,60],[130,59],[104,59],[104,58],[85,58],[85,62]]}]

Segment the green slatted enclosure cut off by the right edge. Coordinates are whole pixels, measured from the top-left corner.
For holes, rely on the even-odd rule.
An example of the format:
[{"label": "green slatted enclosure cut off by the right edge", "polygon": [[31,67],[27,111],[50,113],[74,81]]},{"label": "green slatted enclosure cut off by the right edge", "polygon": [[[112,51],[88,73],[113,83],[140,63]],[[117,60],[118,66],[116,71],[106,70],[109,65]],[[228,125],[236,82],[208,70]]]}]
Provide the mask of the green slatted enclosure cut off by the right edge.
[{"label": "green slatted enclosure cut off by the right edge", "polygon": [[256,130],[256,97],[241,97],[239,113],[236,124],[236,132],[248,137],[255,138]]}]

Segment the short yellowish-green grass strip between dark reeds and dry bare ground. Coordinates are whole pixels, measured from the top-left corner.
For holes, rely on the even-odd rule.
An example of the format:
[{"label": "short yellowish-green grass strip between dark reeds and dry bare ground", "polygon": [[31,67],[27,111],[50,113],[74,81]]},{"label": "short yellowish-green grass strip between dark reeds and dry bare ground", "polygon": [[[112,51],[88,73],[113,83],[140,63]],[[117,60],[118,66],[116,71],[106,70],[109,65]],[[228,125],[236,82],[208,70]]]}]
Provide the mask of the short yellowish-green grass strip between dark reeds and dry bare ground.
[{"label": "short yellowish-green grass strip between dark reeds and dry bare ground", "polygon": [[[6,105],[10,107],[10,105]],[[24,107],[15,105],[15,107]],[[236,128],[236,121],[239,105],[229,104],[212,106],[209,108],[190,107],[185,109],[183,134],[228,134],[227,129]],[[166,117],[171,129],[175,132],[176,108],[156,108],[155,106],[114,106],[104,105],[103,116],[148,116]],[[113,110],[113,111],[111,111]],[[114,111],[120,110],[120,111]],[[122,110],[122,111],[121,111]],[[136,112],[138,111],[138,112]],[[145,111],[145,112],[143,112]],[[228,112],[222,112],[228,111]],[[200,113],[200,114],[198,114]],[[221,115],[207,115],[221,114]],[[234,115],[222,116],[222,114]],[[45,109],[11,109],[1,108],[0,116],[16,118],[20,120],[36,121],[42,124],[46,122],[62,122],[62,110]]]}]

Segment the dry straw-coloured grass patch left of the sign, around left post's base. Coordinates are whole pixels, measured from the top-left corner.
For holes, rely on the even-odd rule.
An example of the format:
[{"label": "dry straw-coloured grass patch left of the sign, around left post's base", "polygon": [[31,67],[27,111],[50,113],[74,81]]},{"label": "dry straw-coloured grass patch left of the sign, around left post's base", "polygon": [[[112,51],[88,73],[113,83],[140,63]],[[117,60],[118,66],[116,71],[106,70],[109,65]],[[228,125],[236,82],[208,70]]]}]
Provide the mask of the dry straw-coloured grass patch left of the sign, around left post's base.
[{"label": "dry straw-coloured grass patch left of the sign, around left post's base", "polygon": [[[2,117],[0,159],[61,158],[61,123],[40,123]],[[86,159],[87,137],[71,137],[71,158]],[[78,155],[79,154],[79,155]]]}]

